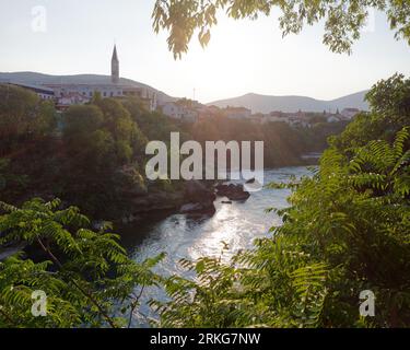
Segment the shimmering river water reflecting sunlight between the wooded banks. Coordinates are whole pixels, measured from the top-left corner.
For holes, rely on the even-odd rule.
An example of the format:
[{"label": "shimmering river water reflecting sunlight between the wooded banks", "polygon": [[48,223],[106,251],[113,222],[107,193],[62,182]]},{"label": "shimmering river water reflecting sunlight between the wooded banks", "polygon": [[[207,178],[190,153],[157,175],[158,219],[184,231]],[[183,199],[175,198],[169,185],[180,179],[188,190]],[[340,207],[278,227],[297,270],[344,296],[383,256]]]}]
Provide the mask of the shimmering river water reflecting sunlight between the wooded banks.
[{"label": "shimmering river water reflecting sunlight between the wooded banks", "polygon": [[[285,183],[292,175],[301,177],[309,174],[305,166],[266,170],[265,184]],[[222,203],[226,198],[218,198],[216,212],[212,217],[161,213],[122,230],[121,243],[131,258],[138,261],[166,253],[155,271],[164,276],[188,277],[189,273],[178,262],[181,258],[219,257],[222,242],[225,242],[229,250],[223,258],[229,259],[237,250],[250,248],[255,238],[268,236],[269,229],[280,225],[281,219],[274,212],[267,213],[266,209],[286,208],[290,194],[288,189],[263,188],[253,192],[247,201],[232,205]],[[149,289],[145,298],[164,300],[166,295],[160,289]],[[145,316],[153,316],[148,307],[142,307],[142,312]]]}]

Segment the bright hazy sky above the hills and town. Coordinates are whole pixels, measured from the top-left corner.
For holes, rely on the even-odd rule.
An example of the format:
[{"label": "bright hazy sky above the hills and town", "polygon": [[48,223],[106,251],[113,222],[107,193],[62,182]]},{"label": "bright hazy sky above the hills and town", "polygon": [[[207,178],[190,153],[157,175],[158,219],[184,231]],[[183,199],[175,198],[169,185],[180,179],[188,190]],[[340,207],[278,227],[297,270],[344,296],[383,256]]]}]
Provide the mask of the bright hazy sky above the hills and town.
[{"label": "bright hazy sky above the hills and town", "polygon": [[[278,21],[221,19],[204,50],[192,43],[175,61],[166,34],[155,35],[154,0],[1,0],[0,71],[110,73],[116,40],[120,75],[173,96],[201,102],[243,95],[307,95],[331,100],[371,88],[395,72],[410,74],[410,47],[396,42],[383,14],[362,34],[353,55],[321,44],[323,27],[282,39]],[[47,10],[45,33],[32,30],[32,9]]]}]

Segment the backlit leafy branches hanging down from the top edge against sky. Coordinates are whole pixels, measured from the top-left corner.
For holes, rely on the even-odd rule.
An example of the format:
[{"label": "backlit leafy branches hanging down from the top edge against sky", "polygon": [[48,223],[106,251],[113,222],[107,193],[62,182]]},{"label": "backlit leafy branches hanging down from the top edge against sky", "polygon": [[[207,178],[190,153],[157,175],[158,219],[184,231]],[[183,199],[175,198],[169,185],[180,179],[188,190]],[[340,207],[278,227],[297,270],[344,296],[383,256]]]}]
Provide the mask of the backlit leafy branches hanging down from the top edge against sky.
[{"label": "backlit leafy branches hanging down from the top edge against sky", "polygon": [[256,20],[278,9],[283,36],[300,33],[305,25],[325,21],[324,44],[335,52],[351,52],[360,30],[365,25],[368,11],[376,9],[386,13],[396,38],[410,44],[410,3],[398,0],[157,0],[153,10],[153,27],[168,32],[168,48],[175,58],[188,50],[192,35],[207,46],[211,28],[218,24],[218,15],[225,11],[227,16]]}]

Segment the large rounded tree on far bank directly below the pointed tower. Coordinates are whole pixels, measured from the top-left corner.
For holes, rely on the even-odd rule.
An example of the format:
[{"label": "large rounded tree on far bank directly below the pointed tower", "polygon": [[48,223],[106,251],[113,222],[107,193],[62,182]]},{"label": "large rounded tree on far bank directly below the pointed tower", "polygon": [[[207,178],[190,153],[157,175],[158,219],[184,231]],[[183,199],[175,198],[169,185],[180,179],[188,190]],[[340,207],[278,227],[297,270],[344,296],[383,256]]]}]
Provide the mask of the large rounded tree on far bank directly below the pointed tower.
[{"label": "large rounded tree on far bank directly below the pointed tower", "polygon": [[132,198],[125,192],[147,190],[140,173],[148,140],[131,113],[150,115],[128,98],[95,100],[66,112],[59,197],[98,218],[114,220],[128,212]]}]

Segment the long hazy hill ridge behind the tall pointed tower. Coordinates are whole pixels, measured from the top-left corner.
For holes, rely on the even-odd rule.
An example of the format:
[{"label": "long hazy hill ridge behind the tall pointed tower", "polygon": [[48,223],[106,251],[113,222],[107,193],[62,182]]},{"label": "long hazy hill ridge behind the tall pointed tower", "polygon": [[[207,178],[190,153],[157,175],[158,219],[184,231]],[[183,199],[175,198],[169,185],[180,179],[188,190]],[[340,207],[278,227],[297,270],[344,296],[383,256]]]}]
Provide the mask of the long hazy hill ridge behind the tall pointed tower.
[{"label": "long hazy hill ridge behind the tall pointed tower", "polygon": [[[13,83],[25,83],[25,84],[109,84],[112,82],[110,75],[97,75],[97,74],[79,74],[79,75],[48,75],[36,72],[14,72],[14,73],[2,73],[0,72],[0,82],[13,82]],[[147,84],[130,80],[120,79],[121,84],[130,84],[138,88],[145,88],[150,92],[156,92],[160,101],[174,101],[174,97],[159,91]]]}]

